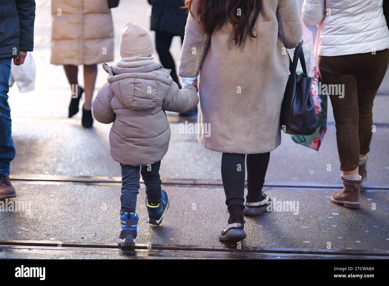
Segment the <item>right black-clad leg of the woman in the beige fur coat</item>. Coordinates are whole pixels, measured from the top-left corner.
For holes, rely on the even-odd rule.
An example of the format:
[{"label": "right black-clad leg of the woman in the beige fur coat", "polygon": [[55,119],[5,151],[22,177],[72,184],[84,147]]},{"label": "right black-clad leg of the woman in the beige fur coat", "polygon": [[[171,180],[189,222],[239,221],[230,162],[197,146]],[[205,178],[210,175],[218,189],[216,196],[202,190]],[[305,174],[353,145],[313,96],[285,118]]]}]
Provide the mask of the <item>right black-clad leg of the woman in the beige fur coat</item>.
[{"label": "right black-clad leg of the woman in the beige fur coat", "polygon": [[247,202],[255,203],[260,201],[269,159],[270,152],[247,154]]}]

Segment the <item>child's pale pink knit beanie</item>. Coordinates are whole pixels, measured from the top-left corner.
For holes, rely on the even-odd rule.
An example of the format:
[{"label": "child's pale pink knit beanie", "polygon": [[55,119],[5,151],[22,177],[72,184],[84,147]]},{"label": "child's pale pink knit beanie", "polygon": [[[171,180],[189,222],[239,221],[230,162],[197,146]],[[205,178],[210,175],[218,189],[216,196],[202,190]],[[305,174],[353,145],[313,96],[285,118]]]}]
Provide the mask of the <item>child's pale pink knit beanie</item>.
[{"label": "child's pale pink knit beanie", "polygon": [[141,25],[127,21],[121,30],[120,56],[128,58],[132,56],[150,56],[154,53],[154,46],[150,33]]}]

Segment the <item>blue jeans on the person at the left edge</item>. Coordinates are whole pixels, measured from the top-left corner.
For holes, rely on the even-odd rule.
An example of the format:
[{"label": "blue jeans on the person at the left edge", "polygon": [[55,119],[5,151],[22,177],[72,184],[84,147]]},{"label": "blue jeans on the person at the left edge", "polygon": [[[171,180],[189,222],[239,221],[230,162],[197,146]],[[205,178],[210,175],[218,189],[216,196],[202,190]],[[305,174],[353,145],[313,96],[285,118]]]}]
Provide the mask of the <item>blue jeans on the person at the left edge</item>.
[{"label": "blue jeans on the person at the left edge", "polygon": [[15,158],[11,138],[11,109],[8,104],[11,59],[0,59],[0,174],[9,174],[9,163]]}]

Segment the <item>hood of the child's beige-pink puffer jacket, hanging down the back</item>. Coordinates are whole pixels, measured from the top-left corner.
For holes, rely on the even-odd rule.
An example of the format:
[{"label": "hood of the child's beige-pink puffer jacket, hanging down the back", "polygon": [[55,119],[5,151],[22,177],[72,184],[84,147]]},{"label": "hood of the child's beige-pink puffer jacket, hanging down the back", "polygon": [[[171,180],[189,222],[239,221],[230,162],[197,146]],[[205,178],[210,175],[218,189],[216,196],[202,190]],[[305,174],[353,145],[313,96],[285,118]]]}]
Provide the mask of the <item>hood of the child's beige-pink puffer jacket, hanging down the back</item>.
[{"label": "hood of the child's beige-pink puffer jacket, hanging down the back", "polygon": [[159,63],[137,68],[110,67],[103,64],[109,74],[112,92],[127,108],[145,110],[162,106],[166,94],[173,84],[171,70]]}]

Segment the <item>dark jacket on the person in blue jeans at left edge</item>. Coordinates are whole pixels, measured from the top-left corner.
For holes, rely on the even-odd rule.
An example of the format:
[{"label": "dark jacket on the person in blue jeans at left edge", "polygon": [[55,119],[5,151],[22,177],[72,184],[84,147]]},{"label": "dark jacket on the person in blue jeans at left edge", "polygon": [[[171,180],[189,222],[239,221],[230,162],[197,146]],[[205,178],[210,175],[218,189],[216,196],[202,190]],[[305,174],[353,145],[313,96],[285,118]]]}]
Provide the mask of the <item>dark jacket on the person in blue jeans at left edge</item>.
[{"label": "dark jacket on the person in blue jeans at left edge", "polygon": [[35,0],[0,1],[0,58],[33,50],[34,20]]}]

